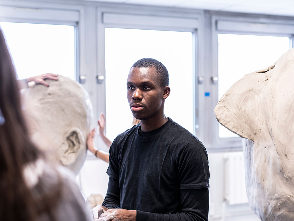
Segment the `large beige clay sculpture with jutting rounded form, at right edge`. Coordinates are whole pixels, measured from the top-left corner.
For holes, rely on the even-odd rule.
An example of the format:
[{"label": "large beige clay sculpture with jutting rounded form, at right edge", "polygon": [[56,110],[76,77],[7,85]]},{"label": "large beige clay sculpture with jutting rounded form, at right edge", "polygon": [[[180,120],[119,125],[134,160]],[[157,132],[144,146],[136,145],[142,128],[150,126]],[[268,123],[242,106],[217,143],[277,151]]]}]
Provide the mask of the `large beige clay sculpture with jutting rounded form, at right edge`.
[{"label": "large beige clay sculpture with jutting rounded form, at right edge", "polygon": [[243,139],[248,201],[261,220],[294,220],[294,49],[245,75],[219,100],[218,121]]}]

